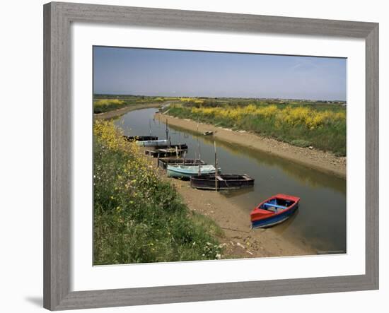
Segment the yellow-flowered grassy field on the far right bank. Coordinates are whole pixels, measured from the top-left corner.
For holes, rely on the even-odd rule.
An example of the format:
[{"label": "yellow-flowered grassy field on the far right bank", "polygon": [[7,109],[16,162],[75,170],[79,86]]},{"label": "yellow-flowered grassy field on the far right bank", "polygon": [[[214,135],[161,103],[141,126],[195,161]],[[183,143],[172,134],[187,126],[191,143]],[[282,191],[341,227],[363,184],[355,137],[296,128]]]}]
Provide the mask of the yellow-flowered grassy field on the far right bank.
[{"label": "yellow-flowered grassy field on the far right bank", "polygon": [[346,108],[325,102],[182,98],[168,114],[346,155]]}]

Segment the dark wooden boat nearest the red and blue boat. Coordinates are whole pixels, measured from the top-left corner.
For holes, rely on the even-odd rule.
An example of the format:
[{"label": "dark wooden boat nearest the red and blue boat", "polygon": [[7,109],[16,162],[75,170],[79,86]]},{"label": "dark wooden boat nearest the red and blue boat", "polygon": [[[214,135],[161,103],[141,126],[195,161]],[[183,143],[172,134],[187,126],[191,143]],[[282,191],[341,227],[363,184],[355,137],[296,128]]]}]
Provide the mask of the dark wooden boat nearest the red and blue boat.
[{"label": "dark wooden boat nearest the red and blue boat", "polygon": [[254,186],[254,179],[248,175],[220,174],[190,177],[190,186],[197,189],[228,190]]}]

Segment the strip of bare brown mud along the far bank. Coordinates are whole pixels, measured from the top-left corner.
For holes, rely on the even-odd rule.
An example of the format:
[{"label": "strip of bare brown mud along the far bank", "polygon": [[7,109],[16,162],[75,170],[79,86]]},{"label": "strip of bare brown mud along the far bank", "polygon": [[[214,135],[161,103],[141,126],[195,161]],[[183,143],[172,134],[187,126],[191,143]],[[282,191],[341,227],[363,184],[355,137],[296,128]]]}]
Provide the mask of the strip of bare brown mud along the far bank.
[{"label": "strip of bare brown mud along the far bank", "polygon": [[[179,126],[183,129],[196,131],[197,122],[190,119],[179,119],[171,117],[167,114],[156,114],[157,119],[173,126]],[[315,170],[330,173],[337,177],[346,179],[346,158],[337,157],[333,153],[323,152],[315,148],[300,148],[292,146],[289,143],[283,143],[272,138],[258,136],[247,131],[233,131],[231,129],[223,129],[210,124],[199,123],[199,131],[214,131],[214,138],[228,143],[235,143],[240,146],[262,150],[267,153],[272,153],[281,158],[291,160],[294,163],[302,164]]]}]

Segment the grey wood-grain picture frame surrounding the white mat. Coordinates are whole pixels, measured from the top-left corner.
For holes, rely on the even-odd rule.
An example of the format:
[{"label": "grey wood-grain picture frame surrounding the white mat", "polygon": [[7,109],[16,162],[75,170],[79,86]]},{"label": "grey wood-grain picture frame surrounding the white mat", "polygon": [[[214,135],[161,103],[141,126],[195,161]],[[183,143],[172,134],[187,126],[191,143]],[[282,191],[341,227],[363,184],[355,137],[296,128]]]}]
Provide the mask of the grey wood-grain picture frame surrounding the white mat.
[{"label": "grey wood-grain picture frame surrounding the white mat", "polygon": [[[70,25],[73,22],[365,40],[365,275],[71,291]],[[52,2],[44,6],[44,76],[45,308],[82,309],[378,289],[378,23]]]}]

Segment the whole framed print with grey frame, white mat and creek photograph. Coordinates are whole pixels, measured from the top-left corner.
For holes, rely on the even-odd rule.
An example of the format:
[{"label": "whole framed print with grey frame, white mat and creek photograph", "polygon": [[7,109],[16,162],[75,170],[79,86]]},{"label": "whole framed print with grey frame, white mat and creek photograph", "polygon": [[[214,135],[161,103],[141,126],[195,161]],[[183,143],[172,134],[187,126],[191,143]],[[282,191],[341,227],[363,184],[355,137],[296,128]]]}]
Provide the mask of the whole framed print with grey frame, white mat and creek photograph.
[{"label": "whole framed print with grey frame, white mat and creek photograph", "polygon": [[44,16],[47,309],[378,288],[378,24]]}]

